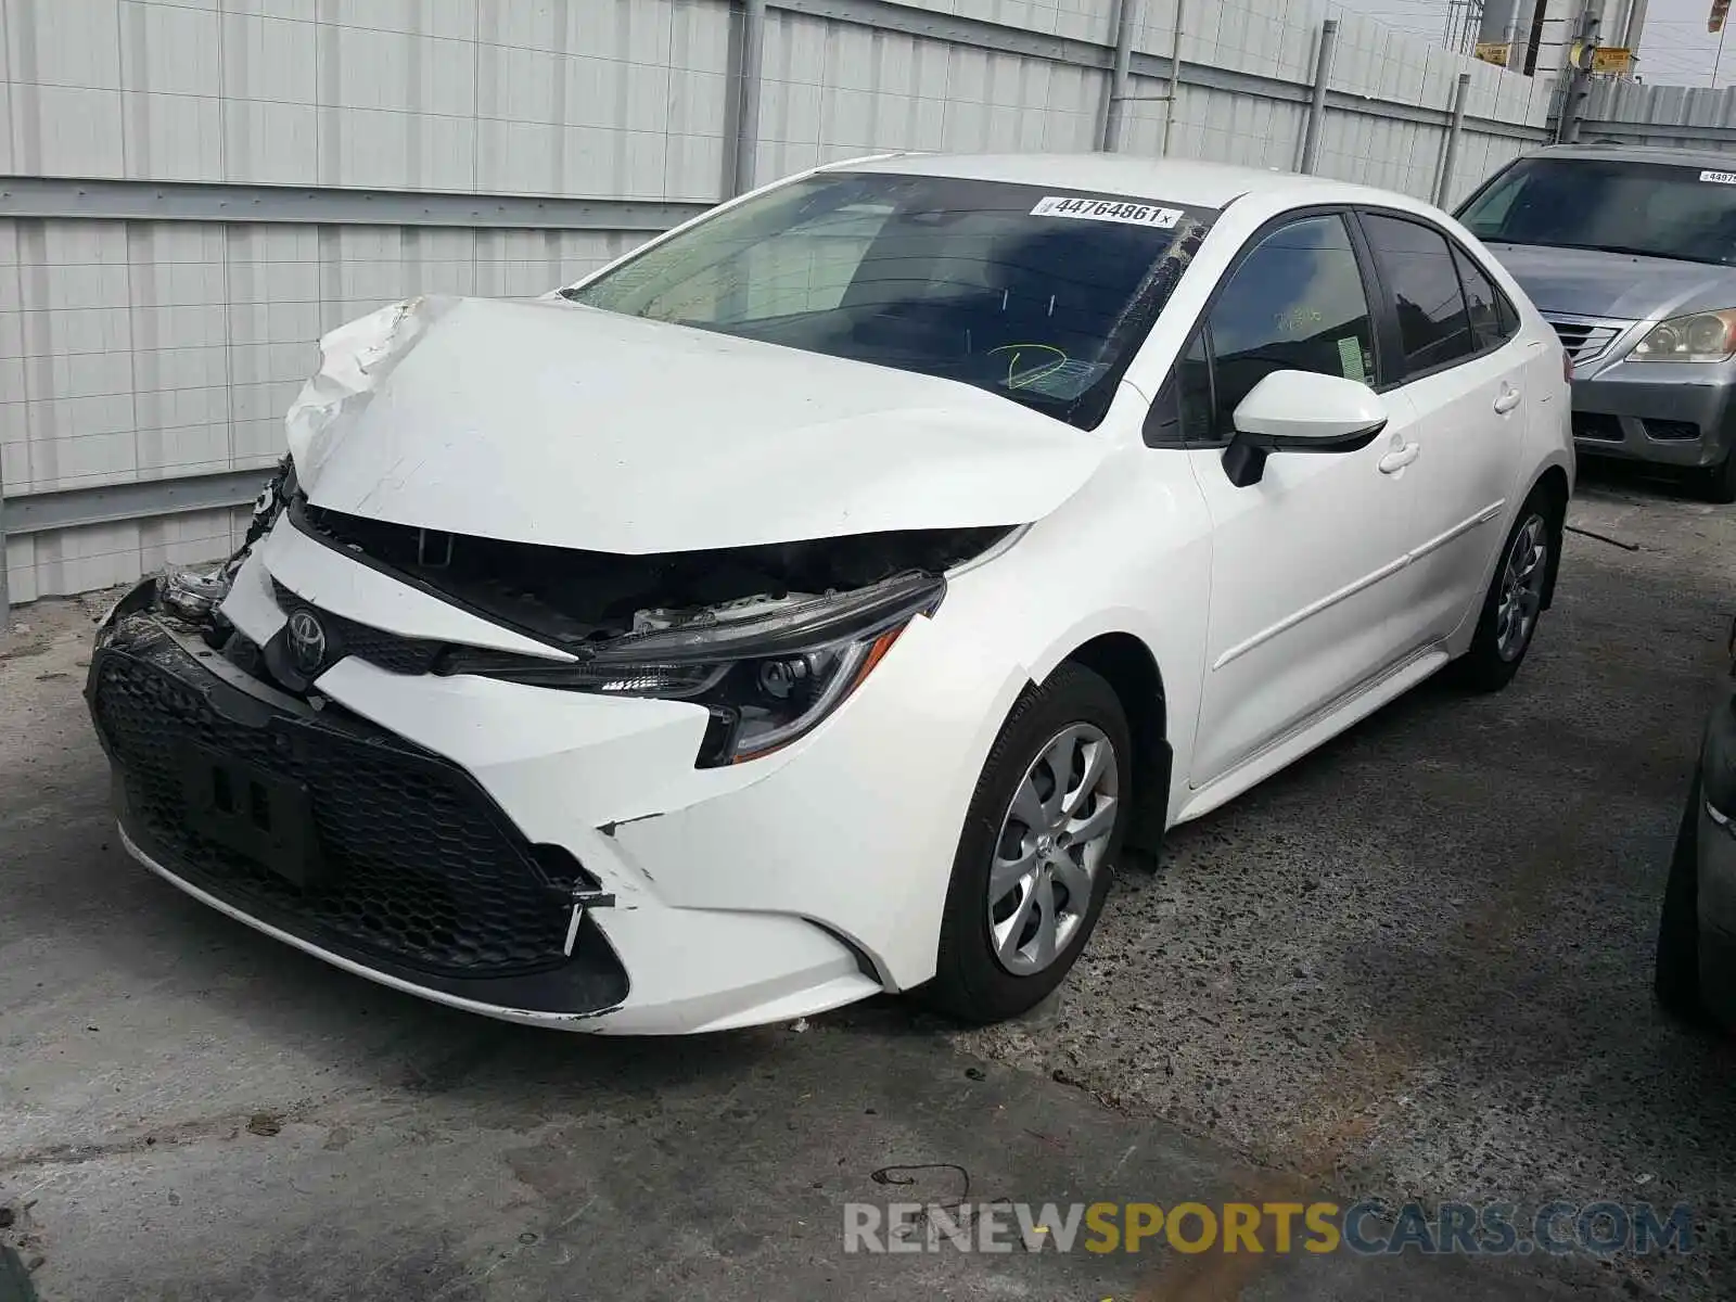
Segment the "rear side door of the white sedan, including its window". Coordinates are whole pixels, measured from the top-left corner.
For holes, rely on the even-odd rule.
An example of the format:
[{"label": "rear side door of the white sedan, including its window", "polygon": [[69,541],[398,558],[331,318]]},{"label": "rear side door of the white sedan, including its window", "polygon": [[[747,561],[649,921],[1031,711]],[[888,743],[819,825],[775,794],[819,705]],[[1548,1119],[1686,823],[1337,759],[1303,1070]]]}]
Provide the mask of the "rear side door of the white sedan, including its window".
[{"label": "rear side door of the white sedan, including its window", "polygon": [[1385,307],[1387,356],[1415,413],[1406,521],[1406,649],[1448,637],[1483,602],[1519,474],[1526,365],[1519,316],[1457,240],[1410,214],[1359,214]]}]

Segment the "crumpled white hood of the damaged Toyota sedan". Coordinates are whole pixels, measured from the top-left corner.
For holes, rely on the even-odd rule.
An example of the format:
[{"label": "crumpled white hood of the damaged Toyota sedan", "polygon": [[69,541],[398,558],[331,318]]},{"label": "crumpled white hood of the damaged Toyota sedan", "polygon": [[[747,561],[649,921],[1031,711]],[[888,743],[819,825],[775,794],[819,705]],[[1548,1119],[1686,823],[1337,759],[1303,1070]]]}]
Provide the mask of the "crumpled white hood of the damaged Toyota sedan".
[{"label": "crumpled white hood of the damaged Toyota sedan", "polygon": [[625,554],[1023,524],[1108,451],[962,384],[559,299],[342,326],[288,434],[319,507]]}]

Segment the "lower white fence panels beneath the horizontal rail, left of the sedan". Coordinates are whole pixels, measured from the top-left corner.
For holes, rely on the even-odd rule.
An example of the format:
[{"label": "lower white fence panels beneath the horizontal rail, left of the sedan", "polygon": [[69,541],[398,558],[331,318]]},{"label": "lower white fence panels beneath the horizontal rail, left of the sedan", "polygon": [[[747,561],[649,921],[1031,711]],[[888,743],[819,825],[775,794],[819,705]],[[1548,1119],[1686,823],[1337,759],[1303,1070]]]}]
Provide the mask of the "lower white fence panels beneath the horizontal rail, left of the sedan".
[{"label": "lower white fence panels beneath the horizontal rail, left of the sedan", "polygon": [[[14,498],[269,467],[326,330],[424,292],[543,293],[639,238],[0,222],[0,483]],[[247,512],[201,510],[10,536],[12,599],[222,556],[245,529]]]}]

